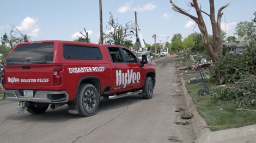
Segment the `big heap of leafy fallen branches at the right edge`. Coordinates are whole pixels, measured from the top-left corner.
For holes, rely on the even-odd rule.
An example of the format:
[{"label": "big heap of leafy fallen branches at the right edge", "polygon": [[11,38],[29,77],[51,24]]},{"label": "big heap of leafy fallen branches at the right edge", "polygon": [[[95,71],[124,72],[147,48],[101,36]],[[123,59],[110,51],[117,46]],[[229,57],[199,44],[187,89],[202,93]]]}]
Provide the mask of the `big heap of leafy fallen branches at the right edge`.
[{"label": "big heap of leafy fallen branches at the right edge", "polygon": [[211,82],[227,84],[211,92],[212,98],[233,100],[239,107],[256,106],[256,50],[249,48],[237,59],[233,54],[221,57]]}]

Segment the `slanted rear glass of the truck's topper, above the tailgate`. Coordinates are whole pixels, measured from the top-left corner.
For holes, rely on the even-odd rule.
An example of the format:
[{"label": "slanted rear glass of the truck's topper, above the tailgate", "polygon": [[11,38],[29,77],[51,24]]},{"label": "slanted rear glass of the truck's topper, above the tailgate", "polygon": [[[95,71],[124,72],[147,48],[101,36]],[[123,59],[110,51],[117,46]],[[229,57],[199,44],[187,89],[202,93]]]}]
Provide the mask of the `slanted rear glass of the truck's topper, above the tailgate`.
[{"label": "slanted rear glass of the truck's topper, above the tailgate", "polygon": [[5,64],[52,63],[53,43],[34,43],[18,46],[10,54]]}]

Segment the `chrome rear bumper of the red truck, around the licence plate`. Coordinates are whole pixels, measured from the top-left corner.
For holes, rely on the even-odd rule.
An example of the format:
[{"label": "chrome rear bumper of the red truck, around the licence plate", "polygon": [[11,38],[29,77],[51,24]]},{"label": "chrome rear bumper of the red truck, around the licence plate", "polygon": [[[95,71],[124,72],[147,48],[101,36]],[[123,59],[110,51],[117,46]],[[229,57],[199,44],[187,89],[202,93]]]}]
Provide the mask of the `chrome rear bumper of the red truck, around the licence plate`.
[{"label": "chrome rear bumper of the red truck, around the licence plate", "polygon": [[19,90],[4,90],[4,100],[8,101],[31,101],[35,103],[65,103],[69,100],[66,91],[38,90],[33,98],[23,97]]}]

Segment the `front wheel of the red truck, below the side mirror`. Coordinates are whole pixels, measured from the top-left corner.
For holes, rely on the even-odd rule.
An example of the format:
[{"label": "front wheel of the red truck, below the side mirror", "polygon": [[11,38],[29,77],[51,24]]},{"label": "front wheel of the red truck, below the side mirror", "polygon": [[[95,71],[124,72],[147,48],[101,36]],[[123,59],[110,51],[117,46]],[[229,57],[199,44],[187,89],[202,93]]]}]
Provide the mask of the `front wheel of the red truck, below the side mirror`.
[{"label": "front wheel of the red truck, below the side mirror", "polygon": [[143,87],[143,98],[151,99],[153,97],[154,83],[151,77],[147,76],[145,85]]}]

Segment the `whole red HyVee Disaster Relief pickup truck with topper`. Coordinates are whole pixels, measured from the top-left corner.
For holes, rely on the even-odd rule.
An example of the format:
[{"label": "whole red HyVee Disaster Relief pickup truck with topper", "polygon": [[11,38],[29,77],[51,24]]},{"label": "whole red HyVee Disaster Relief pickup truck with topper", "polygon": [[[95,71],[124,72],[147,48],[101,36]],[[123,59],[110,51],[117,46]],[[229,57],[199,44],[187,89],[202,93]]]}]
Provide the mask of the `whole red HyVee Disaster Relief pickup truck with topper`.
[{"label": "whole red HyVee Disaster Relief pickup truck with topper", "polygon": [[69,113],[95,114],[100,97],[153,96],[156,71],[122,46],[71,41],[18,44],[4,62],[4,99],[18,111],[44,113],[68,104]]}]

